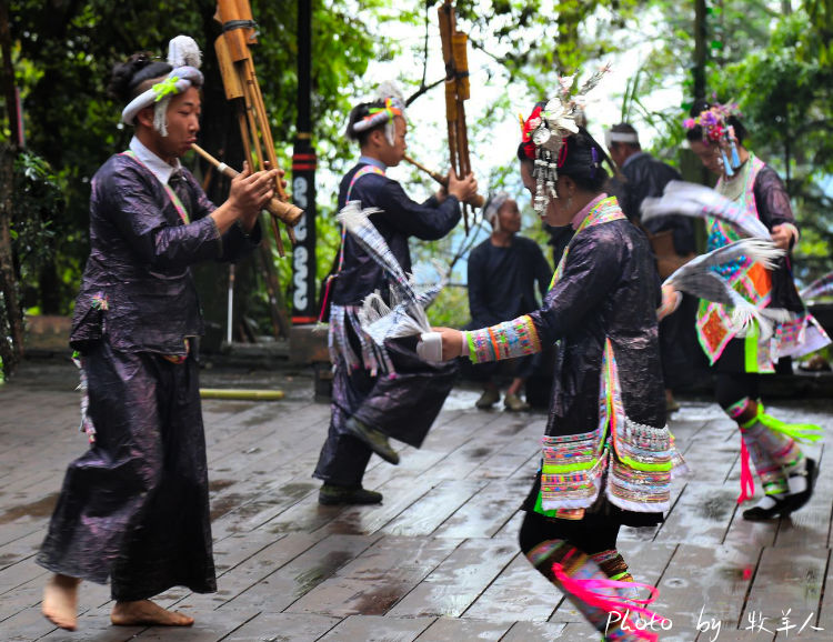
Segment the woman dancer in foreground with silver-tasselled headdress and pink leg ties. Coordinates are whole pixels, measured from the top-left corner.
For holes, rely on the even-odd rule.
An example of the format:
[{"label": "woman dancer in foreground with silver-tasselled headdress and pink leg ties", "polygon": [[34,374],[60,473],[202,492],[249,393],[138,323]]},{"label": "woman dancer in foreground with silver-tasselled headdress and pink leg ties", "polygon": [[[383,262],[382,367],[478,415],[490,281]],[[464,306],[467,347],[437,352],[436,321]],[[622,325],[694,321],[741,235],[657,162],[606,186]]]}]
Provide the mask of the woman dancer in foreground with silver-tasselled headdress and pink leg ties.
[{"label": "woman dancer in foreground with silver-tasselled headdress and pink leg ties", "polygon": [[[604,640],[653,639],[625,614],[621,582],[633,579],[616,538],[622,524],[662,521],[682,463],[665,427],[660,287],[648,241],[602,192],[604,152],[571,113],[559,99],[536,106],[518,150],[535,210],[575,230],[542,308],[482,330],[438,331],[443,359],[476,363],[561,342],[521,549]],[[610,589],[588,589],[599,581]]]}]

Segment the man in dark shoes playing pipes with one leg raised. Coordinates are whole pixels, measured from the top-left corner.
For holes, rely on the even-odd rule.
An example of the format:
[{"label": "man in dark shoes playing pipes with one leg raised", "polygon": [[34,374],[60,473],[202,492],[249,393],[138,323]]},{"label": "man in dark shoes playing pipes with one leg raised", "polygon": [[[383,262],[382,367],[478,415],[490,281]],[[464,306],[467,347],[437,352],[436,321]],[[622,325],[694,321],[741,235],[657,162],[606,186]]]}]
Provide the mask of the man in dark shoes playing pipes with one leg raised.
[{"label": "man in dark shoes playing pipes with one leg raised", "polygon": [[[420,204],[385,175],[402,161],[407,148],[404,104],[391,93],[350,112],[348,137],[359,142],[361,157],[341,181],[339,209],[350,200],[379,208],[370,221],[410,272],[409,238],[435,240],[448,234],[460,221],[460,202],[476,193],[476,181],[471,174],[458,179],[452,171],[448,190]],[[390,340],[383,348],[373,343],[361,329],[358,310],[375,290],[389,298],[384,272],[351,235],[342,234],[324,302],[331,303],[329,345],[335,372],[330,430],[313,472],[324,482],[322,504],[381,502],[381,493],[362,488],[370,455],[375,452],[399,463],[389,438],[419,448],[456,373],[452,364],[422,361],[415,338]]]}]

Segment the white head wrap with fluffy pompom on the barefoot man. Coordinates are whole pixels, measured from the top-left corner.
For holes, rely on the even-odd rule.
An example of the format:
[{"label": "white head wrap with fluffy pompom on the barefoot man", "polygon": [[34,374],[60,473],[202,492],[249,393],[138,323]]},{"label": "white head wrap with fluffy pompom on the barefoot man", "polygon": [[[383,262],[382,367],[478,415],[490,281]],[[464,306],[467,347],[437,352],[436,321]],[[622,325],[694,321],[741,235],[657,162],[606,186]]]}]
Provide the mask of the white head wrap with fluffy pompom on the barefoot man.
[{"label": "white head wrap with fluffy pompom on the barefoot man", "polygon": [[168,44],[168,63],[173,69],[164,80],[137,96],[121,111],[121,120],[126,124],[134,124],[137,114],[145,107],[155,104],[153,109],[153,127],[168,136],[168,106],[171,97],[182,93],[190,87],[202,87],[200,63],[202,56],[197,42],[188,36],[177,36]]}]

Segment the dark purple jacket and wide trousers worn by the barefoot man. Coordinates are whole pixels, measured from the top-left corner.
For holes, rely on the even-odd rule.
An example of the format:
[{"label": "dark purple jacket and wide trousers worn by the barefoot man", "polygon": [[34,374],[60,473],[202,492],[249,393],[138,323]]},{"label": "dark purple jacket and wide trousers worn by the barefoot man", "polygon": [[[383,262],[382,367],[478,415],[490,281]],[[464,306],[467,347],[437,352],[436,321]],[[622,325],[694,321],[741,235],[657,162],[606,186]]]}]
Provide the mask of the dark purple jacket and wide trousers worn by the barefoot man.
[{"label": "dark purple jacket and wide trousers worn by the barefoot man", "polygon": [[233,225],[221,237],[190,172],[170,182],[189,224],[127,154],[93,178],[91,251],[70,343],[87,375],[96,441],[67,470],[37,560],[73,578],[110,578],[121,601],[174,585],[217,590],[195,342],[187,339],[203,327],[190,265],[234,260],[261,234]]}]

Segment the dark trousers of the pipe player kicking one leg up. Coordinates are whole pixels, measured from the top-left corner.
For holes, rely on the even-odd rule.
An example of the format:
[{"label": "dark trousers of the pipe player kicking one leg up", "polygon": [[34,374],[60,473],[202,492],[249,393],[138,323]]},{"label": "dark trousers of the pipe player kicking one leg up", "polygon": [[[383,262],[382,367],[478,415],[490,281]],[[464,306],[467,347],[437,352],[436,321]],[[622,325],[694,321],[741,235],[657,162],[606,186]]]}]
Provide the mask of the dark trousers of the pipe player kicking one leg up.
[{"label": "dark trousers of the pipe player kicking one leg up", "polygon": [[[352,344],[352,329],[348,329],[348,337]],[[350,370],[339,361],[333,374],[330,429],[313,477],[338,485],[361,485],[372,451],[344,429],[351,417],[392,439],[414,448],[422,445],[451,392],[456,365],[422,361],[416,355],[415,338],[388,341],[385,347],[397,371],[394,377],[371,377],[363,368]]]}]

